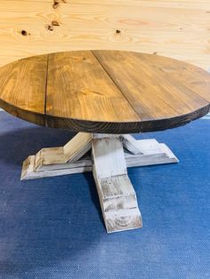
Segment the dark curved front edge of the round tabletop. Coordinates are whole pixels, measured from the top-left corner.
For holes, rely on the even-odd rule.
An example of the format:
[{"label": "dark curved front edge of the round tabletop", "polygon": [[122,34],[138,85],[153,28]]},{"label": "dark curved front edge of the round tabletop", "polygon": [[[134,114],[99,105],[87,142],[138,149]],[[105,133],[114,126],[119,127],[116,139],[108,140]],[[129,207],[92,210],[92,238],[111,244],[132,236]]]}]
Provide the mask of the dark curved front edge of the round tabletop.
[{"label": "dark curved front edge of the round tabletop", "polygon": [[91,121],[39,114],[33,111],[25,110],[23,108],[17,108],[1,99],[0,108],[3,108],[6,112],[12,114],[13,116],[19,117],[20,119],[29,121],[33,124],[38,124],[40,126],[69,129],[74,132],[126,134],[139,132],[158,132],[188,124],[193,120],[196,120],[202,116],[206,116],[206,114],[210,111],[210,104],[207,104],[202,108],[198,108],[189,114],[181,116],[120,123]]}]

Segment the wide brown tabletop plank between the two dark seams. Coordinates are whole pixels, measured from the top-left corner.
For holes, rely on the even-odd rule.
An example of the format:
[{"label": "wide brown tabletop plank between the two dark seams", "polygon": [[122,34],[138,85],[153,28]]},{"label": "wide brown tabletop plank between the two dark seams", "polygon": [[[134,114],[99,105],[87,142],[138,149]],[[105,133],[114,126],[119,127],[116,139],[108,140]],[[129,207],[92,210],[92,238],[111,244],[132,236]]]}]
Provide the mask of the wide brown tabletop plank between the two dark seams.
[{"label": "wide brown tabletop plank between the two dark seams", "polygon": [[45,114],[49,126],[72,128],[78,121],[80,131],[97,130],[99,122],[141,122],[90,51],[49,54]]}]

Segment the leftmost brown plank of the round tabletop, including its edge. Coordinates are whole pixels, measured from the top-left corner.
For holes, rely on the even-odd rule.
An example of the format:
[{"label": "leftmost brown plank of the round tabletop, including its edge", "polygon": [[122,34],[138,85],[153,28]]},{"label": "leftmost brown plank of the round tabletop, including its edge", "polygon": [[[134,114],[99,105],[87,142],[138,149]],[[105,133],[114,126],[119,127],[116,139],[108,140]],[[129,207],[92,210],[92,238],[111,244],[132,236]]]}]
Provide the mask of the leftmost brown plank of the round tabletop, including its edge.
[{"label": "leftmost brown plank of the round tabletop, including its edge", "polygon": [[44,125],[47,55],[0,68],[0,106],[14,116]]}]

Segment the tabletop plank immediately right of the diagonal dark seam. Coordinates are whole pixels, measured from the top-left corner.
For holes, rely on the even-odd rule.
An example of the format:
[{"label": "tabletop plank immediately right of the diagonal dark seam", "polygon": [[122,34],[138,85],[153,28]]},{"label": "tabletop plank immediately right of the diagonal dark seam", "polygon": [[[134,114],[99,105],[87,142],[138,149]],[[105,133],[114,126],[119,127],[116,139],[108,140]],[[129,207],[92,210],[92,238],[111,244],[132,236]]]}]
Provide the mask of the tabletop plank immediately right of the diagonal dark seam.
[{"label": "tabletop plank immediately right of the diagonal dark seam", "polygon": [[[182,79],[174,79],[158,68],[155,55],[117,51],[93,53],[141,118],[139,108],[142,105],[153,119],[184,116],[209,106],[199,90],[194,92],[193,86],[185,86]],[[162,58],[158,61],[161,66]],[[182,68],[182,62],[178,65]],[[198,83],[202,79],[202,76],[191,74],[186,78]],[[209,88],[206,94],[209,95]]]}]

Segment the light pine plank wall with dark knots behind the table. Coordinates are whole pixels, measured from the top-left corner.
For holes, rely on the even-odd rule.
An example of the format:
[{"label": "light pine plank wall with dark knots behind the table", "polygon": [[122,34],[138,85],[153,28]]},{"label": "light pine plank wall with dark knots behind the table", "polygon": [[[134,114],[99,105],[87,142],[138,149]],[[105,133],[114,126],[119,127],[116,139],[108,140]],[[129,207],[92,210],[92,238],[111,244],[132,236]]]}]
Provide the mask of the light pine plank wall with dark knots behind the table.
[{"label": "light pine plank wall with dark knots behind the table", "polygon": [[[0,67],[47,52],[115,49],[157,53],[208,69],[210,1],[3,0]],[[52,21],[59,23],[49,29]],[[26,34],[21,34],[21,31]]]}]

